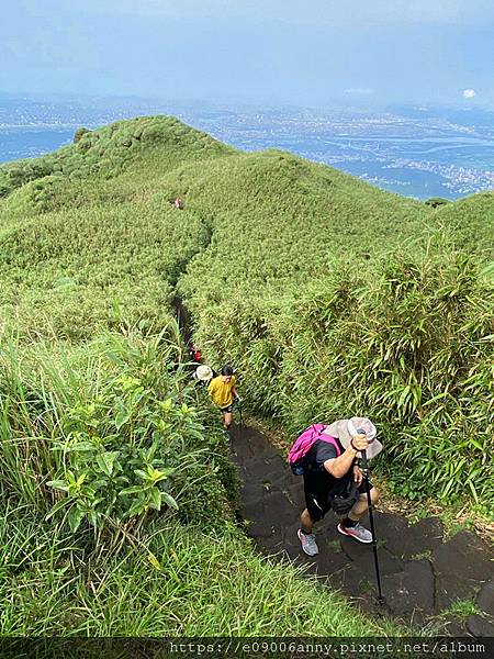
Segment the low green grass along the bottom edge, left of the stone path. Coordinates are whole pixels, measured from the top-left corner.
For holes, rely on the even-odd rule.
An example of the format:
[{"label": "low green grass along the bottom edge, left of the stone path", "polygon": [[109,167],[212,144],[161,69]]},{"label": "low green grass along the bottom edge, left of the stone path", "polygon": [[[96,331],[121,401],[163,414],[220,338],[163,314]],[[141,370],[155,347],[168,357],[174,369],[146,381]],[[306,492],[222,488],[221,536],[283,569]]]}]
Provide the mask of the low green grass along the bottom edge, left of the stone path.
[{"label": "low green grass along the bottom edge, left of the stone path", "polygon": [[[300,569],[252,552],[238,530],[157,524],[146,551],[88,555],[25,510],[0,515],[3,636],[397,635]],[[151,551],[156,560],[148,560]]]}]

